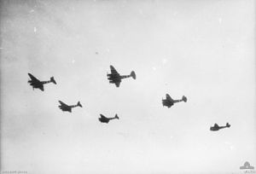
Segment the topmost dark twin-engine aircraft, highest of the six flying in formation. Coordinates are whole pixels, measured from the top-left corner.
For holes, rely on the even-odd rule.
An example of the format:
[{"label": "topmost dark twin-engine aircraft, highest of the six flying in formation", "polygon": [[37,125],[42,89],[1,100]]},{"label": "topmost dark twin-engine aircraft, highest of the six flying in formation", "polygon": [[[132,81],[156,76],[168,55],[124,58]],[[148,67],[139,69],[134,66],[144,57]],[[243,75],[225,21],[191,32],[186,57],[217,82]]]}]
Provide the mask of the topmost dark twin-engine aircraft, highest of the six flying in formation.
[{"label": "topmost dark twin-engine aircraft, highest of the six flying in formation", "polygon": [[131,72],[130,75],[123,75],[121,76],[115,69],[113,66],[110,66],[110,70],[111,70],[111,73],[108,73],[107,76],[108,76],[108,80],[109,80],[109,83],[110,84],[115,84],[116,87],[119,87],[121,81],[123,78],[133,78],[133,79],[136,79],[136,74],[134,71]]}]

